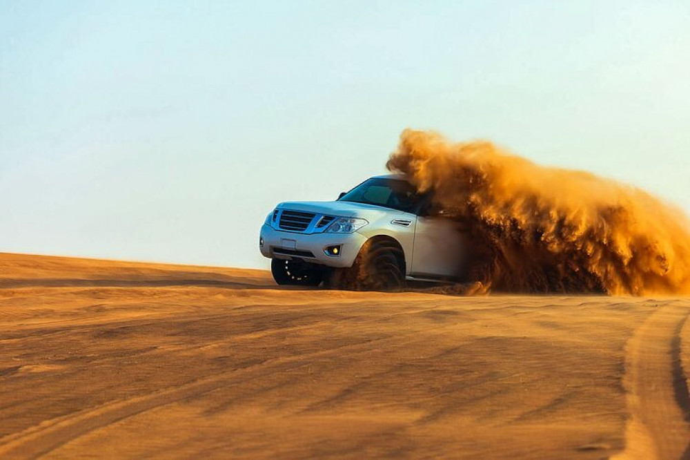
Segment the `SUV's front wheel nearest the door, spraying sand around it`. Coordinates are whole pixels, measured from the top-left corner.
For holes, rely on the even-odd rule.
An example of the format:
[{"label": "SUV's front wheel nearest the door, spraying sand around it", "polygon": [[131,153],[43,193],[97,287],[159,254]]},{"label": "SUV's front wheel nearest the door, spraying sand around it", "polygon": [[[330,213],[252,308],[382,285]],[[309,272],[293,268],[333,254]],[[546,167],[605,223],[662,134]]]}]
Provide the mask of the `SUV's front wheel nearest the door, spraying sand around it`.
[{"label": "SUV's front wheel nearest the door, spraying sand around it", "polygon": [[405,284],[404,267],[404,253],[395,240],[368,240],[352,267],[331,270],[324,282],[331,289],[399,291]]}]

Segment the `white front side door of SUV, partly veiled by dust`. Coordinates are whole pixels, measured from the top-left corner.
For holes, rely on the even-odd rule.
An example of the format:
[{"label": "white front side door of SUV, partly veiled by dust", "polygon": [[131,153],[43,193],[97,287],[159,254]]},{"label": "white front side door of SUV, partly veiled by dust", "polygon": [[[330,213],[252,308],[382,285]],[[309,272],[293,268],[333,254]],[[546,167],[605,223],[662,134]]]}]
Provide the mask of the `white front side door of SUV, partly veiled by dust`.
[{"label": "white front side door of SUV, partly veiled by dust", "polygon": [[411,275],[425,279],[462,278],[466,238],[460,224],[441,215],[417,216]]}]

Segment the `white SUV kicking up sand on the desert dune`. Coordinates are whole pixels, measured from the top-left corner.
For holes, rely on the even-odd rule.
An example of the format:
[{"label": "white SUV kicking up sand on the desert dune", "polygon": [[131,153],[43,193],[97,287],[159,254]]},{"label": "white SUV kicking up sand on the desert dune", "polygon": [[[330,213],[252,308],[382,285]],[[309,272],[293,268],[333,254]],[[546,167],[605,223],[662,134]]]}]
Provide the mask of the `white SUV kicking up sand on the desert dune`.
[{"label": "white SUV kicking up sand on the desert dune", "polygon": [[457,222],[402,175],[368,179],[333,202],[284,202],[268,214],[259,248],[279,285],[400,289],[406,280],[464,275]]}]

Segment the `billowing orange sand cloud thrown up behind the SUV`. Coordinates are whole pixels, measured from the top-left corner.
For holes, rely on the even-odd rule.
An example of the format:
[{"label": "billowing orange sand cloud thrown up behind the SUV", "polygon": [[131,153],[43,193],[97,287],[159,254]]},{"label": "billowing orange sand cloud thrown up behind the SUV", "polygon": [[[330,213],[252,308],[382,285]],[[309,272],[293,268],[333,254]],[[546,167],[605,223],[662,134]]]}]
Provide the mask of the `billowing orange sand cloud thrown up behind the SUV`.
[{"label": "billowing orange sand cloud thrown up behind the SUV", "polygon": [[634,186],[540,166],[490,142],[406,130],[386,164],[470,241],[467,281],[491,291],[690,291],[690,225]]}]

